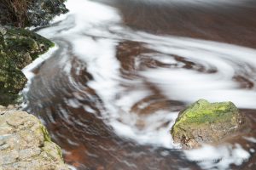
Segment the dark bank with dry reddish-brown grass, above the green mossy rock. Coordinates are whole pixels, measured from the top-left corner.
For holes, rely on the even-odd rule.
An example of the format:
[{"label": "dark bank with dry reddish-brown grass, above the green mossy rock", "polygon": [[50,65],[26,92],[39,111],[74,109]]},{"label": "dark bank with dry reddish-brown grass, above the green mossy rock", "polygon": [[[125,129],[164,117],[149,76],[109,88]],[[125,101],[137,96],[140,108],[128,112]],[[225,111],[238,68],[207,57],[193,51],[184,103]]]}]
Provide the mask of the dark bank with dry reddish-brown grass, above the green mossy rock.
[{"label": "dark bank with dry reddish-brown grass, above the green mossy rock", "polygon": [[67,13],[65,0],[1,0],[0,24],[46,26],[55,15]]}]

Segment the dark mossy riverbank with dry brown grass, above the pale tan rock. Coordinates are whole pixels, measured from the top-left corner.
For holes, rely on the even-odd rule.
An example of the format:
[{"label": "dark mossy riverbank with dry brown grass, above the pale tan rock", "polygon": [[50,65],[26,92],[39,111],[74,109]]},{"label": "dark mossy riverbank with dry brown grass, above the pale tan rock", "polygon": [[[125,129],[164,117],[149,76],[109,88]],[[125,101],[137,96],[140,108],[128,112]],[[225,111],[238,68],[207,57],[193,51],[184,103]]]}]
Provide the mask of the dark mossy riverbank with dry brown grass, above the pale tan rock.
[{"label": "dark mossy riverbank with dry brown grass, above the pale tan rock", "polygon": [[26,85],[21,72],[53,42],[26,26],[47,26],[56,15],[67,13],[64,0],[3,0],[0,3],[0,105],[17,103]]}]

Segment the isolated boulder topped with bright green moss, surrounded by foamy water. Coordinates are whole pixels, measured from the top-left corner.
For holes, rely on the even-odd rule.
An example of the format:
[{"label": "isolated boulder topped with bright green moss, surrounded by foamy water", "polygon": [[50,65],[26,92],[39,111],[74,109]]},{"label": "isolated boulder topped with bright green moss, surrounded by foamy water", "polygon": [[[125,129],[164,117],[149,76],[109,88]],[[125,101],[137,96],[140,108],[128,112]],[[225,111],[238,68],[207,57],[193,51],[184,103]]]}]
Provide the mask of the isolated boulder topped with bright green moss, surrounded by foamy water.
[{"label": "isolated boulder topped with bright green moss, surrounded by foamy water", "polygon": [[181,111],[171,133],[184,149],[214,144],[241,130],[245,117],[231,102],[209,103],[200,99]]}]

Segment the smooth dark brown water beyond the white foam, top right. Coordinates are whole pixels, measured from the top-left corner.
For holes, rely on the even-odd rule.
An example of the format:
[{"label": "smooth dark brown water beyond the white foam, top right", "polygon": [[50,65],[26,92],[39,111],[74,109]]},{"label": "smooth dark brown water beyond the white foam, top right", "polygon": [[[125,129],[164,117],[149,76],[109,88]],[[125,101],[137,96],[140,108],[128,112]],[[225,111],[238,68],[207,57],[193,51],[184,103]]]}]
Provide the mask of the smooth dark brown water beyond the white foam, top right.
[{"label": "smooth dark brown water beyond the white foam, top right", "polygon": [[120,9],[125,24],[157,34],[256,47],[256,2],[222,0],[102,0]]}]

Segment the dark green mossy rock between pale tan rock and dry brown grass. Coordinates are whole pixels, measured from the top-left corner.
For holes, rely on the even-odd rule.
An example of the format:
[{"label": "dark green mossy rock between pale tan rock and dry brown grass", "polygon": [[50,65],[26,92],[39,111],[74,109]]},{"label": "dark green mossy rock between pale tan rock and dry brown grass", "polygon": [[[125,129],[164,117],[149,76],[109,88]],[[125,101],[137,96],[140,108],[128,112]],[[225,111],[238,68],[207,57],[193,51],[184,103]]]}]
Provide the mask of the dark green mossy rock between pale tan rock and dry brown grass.
[{"label": "dark green mossy rock between pale tan rock and dry brown grass", "polygon": [[53,42],[32,31],[0,26],[0,105],[18,99],[26,85],[20,70],[52,46]]}]

